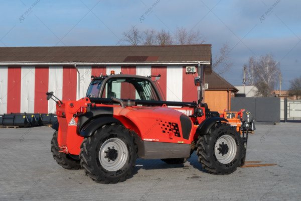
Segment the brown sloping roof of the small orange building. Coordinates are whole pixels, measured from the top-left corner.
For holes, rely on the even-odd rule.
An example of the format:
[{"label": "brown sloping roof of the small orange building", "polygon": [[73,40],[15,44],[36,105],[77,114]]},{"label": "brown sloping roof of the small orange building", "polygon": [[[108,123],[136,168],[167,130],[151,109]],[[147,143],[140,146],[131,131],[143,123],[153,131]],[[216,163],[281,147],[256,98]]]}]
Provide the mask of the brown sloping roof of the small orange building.
[{"label": "brown sloping roof of the small orange building", "polygon": [[209,90],[232,90],[237,92],[238,89],[227,82],[224,78],[212,71],[212,74],[205,75],[205,83],[208,83]]}]

